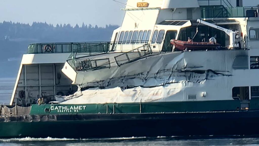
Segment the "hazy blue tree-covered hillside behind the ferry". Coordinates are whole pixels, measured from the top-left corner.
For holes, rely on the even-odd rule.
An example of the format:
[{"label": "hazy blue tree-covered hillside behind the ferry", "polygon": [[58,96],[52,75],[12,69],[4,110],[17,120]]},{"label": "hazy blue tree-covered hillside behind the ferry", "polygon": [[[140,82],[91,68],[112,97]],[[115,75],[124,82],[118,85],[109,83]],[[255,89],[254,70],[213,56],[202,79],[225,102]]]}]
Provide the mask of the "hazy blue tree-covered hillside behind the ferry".
[{"label": "hazy blue tree-covered hillside behind the ferry", "polygon": [[39,42],[96,42],[110,41],[117,25],[105,28],[85,25],[72,27],[70,24],[34,22],[32,25],[2,22],[0,23],[0,78],[16,77],[21,57],[26,53],[28,44]]}]

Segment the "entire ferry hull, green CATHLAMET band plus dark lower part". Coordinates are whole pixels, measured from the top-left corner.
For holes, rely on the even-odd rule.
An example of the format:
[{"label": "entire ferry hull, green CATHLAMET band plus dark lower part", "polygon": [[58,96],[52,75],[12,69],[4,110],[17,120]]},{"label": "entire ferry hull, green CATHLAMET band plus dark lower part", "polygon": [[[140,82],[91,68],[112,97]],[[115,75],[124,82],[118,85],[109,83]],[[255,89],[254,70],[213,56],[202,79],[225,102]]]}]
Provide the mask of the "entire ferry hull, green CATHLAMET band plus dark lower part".
[{"label": "entire ferry hull, green CATHLAMET band plus dark lower part", "polygon": [[[258,135],[259,100],[32,105],[30,115],[0,118],[0,138]],[[240,126],[245,125],[245,126]]]}]

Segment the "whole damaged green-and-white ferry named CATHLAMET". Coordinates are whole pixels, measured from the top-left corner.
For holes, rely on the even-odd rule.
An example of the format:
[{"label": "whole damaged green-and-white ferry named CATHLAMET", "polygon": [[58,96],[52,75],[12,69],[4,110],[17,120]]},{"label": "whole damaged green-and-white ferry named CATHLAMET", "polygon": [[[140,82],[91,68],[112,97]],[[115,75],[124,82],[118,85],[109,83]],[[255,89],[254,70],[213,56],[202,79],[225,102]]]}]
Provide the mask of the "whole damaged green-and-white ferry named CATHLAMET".
[{"label": "whole damaged green-and-white ferry named CATHLAMET", "polygon": [[0,138],[258,135],[258,4],[128,0],[110,42],[30,44]]}]

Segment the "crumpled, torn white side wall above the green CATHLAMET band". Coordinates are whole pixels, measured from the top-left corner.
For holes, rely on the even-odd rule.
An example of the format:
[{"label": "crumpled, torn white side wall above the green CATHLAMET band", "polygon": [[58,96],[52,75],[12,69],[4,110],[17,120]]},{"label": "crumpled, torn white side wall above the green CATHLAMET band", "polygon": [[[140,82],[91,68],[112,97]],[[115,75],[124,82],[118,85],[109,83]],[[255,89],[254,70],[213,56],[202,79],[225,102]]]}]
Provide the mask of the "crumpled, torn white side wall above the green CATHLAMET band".
[{"label": "crumpled, torn white side wall above the green CATHLAMET band", "polygon": [[233,82],[239,76],[235,71],[248,69],[247,59],[247,50],[155,53],[119,66],[79,71],[74,83],[87,90],[80,91],[79,99],[72,99],[78,92],[65,97],[70,101],[62,104],[186,101],[189,95],[233,100]]}]

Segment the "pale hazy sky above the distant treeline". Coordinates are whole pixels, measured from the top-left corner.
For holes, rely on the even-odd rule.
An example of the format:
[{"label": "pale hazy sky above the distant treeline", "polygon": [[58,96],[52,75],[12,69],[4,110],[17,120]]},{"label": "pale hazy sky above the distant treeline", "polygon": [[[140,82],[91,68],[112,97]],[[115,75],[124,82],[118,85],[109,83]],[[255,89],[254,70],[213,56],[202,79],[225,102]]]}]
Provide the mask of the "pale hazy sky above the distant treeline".
[{"label": "pale hazy sky above the distant treeline", "polygon": [[0,0],[0,22],[121,25],[125,14],[122,7],[112,0]]}]

